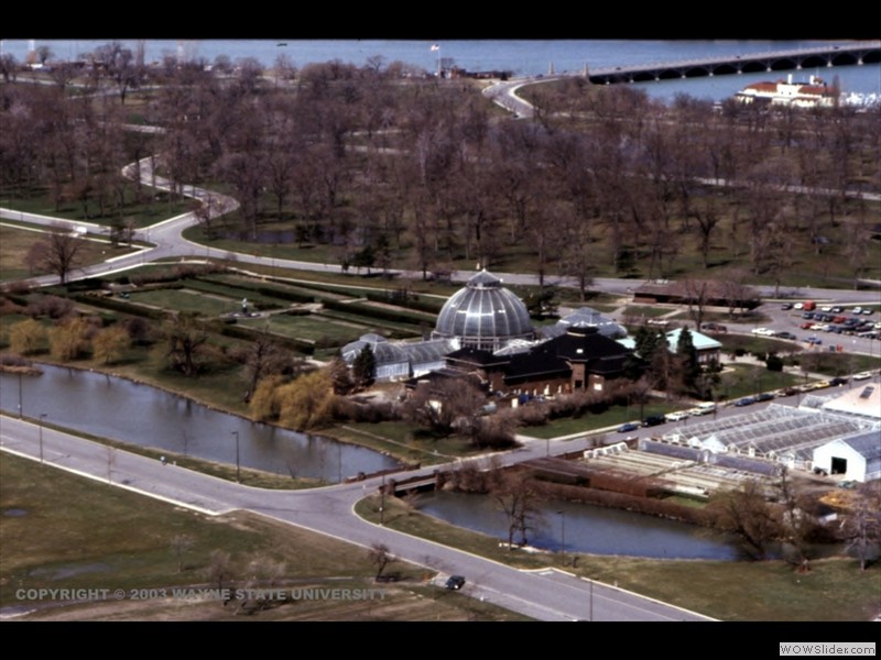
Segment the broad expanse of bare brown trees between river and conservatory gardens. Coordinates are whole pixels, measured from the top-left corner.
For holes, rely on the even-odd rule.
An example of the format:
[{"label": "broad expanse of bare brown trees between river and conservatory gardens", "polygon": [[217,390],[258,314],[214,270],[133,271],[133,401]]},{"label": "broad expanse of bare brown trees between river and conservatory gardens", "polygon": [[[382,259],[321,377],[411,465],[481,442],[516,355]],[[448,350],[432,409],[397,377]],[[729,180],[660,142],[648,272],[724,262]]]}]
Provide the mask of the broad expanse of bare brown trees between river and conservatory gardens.
[{"label": "broad expanse of bare brown trees between river and conservatory gardens", "polygon": [[[878,184],[866,166],[879,153],[872,112],[718,109],[685,96],[665,106],[573,80],[535,92],[536,121],[497,120],[467,82],[400,70],[334,62],[278,85],[254,63],[168,67],[152,72],[159,86],[142,108],[159,134],[123,133],[124,72],[118,96],[4,85],[3,185],[47,185],[85,215],[122,213],[134,184],[119,168],[162,154],[178,195],[185,184],[228,186],[241,206],[225,230],[239,235],[272,222],[340,258],[365,246],[387,263],[407,254],[425,274],[455,258],[491,266],[525,245],[541,278],[586,286],[598,263],[665,276],[692,246],[708,267],[719,243],[780,276],[794,241],[825,249],[824,227],[840,221],[855,179]],[[833,194],[798,196],[795,185]],[[855,270],[861,243],[847,246]]]}]

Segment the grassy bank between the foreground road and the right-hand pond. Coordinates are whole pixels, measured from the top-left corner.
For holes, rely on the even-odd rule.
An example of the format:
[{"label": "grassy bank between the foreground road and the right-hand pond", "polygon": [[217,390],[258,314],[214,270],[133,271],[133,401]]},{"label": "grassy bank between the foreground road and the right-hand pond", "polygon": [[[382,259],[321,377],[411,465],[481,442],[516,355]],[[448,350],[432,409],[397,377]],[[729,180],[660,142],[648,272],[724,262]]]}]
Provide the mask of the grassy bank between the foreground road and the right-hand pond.
[{"label": "grassy bank between the foreground road and the right-hand pond", "polygon": [[[379,519],[379,496],[356,512]],[[558,554],[525,554],[499,539],[420,514],[409,503],[385,499],[384,525],[524,569],[559,565]],[[572,553],[567,553],[572,561]],[[812,562],[806,574],[782,561],[721,562],[578,554],[577,575],[618,585],[693,612],[731,622],[868,622],[881,612],[881,564],[860,571],[856,560]]]}]

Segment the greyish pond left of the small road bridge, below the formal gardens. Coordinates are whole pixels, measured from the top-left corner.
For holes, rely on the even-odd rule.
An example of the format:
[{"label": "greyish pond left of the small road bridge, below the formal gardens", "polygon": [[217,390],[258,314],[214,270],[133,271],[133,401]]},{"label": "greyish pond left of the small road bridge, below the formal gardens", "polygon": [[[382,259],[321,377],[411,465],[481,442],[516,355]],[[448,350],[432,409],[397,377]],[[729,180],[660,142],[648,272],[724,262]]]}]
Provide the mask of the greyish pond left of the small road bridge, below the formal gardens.
[{"label": "greyish pond left of the small road bridge, below the formal gardens", "polygon": [[31,418],[45,414],[50,424],[228,464],[236,464],[238,433],[241,466],[327,482],[399,464],[370,449],[251,422],[149,385],[41,369],[41,376],[0,374],[0,409],[15,415],[21,400]]}]

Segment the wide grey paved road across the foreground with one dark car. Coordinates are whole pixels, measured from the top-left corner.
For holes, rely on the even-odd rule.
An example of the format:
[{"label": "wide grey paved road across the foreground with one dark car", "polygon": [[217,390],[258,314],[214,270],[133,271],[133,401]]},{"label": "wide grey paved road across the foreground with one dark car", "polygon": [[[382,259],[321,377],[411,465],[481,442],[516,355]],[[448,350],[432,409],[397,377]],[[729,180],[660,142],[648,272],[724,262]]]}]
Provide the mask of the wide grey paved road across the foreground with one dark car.
[{"label": "wide grey paved road across the foreground with one dark car", "polygon": [[[41,441],[37,426],[7,416],[0,417],[0,448],[3,451],[39,460]],[[576,446],[577,442],[572,444]],[[516,457],[505,455],[504,462],[544,455],[544,442],[534,443],[521,452]],[[519,571],[367,522],[355,515],[352,507],[380,485],[378,479],[311,491],[264,491],[172,464],[163,465],[154,459],[111,450],[53,429],[42,431],[42,457],[54,469],[109,481],[207,514],[246,509],[365,548],[385,543],[399,558],[442,574],[466,575],[468,582],[464,592],[468,595],[541,620],[709,620],[699,614],[612,585],[590,583],[553,570]],[[429,474],[431,471],[414,471],[413,474]]]}]

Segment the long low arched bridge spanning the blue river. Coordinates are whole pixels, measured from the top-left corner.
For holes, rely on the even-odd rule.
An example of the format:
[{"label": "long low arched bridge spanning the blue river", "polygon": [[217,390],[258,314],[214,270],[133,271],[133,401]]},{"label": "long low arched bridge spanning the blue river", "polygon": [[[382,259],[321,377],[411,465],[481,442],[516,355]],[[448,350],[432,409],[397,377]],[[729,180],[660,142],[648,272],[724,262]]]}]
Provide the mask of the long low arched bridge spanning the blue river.
[{"label": "long low arched bridge spanning the blue river", "polygon": [[[595,85],[616,82],[651,82],[678,78],[729,76],[777,70],[828,68],[881,63],[881,41],[829,43],[828,45],[791,51],[771,51],[744,55],[721,55],[701,59],[657,62],[634,66],[589,69],[586,75]],[[551,74],[553,75],[553,73]]]}]

